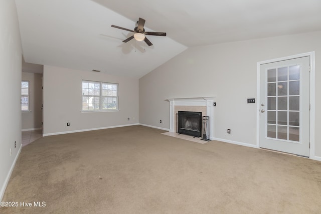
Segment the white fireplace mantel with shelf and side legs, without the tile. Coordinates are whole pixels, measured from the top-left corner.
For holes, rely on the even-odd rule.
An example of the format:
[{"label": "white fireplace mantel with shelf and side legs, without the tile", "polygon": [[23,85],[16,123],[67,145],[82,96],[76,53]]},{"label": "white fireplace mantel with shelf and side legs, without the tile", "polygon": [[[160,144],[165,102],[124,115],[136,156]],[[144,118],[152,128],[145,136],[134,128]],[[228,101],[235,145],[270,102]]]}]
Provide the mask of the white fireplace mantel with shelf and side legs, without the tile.
[{"label": "white fireplace mantel with shelf and side legs, without the tile", "polygon": [[175,106],[206,106],[206,116],[210,117],[210,139],[214,138],[214,107],[216,97],[175,98],[170,102],[170,132],[175,132]]}]

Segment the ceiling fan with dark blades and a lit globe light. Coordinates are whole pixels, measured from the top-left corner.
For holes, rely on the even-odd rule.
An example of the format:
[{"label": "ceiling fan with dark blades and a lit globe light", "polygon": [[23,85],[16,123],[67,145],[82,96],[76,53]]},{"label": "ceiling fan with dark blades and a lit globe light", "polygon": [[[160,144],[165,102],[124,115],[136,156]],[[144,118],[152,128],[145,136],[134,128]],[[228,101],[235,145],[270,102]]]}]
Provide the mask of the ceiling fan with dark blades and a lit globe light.
[{"label": "ceiling fan with dark blades and a lit globe light", "polygon": [[134,28],[134,30],[129,30],[129,29],[126,29],[126,28],[115,26],[115,25],[112,25],[111,27],[118,28],[118,29],[125,30],[125,31],[130,31],[130,32],[134,33],[134,35],[132,35],[131,37],[128,37],[127,39],[122,41],[124,43],[126,43],[126,42],[132,40],[133,38],[135,38],[135,40],[137,40],[137,41],[145,41],[145,43],[148,46],[152,46],[152,43],[146,38],[145,35],[164,36],[164,37],[166,36],[166,33],[162,33],[162,32],[145,32],[144,25],[145,25],[145,20],[139,18],[139,20],[136,23],[136,27]]}]

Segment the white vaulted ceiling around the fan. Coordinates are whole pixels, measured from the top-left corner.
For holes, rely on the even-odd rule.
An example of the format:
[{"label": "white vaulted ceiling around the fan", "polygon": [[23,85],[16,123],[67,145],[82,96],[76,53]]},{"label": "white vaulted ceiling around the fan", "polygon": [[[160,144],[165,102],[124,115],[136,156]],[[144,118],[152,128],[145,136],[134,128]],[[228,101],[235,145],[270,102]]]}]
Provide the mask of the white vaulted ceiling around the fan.
[{"label": "white vaulted ceiling around the fan", "polygon": [[[320,0],[16,0],[27,63],[139,78],[188,47],[321,30]],[[141,17],[166,32],[122,41]]]}]

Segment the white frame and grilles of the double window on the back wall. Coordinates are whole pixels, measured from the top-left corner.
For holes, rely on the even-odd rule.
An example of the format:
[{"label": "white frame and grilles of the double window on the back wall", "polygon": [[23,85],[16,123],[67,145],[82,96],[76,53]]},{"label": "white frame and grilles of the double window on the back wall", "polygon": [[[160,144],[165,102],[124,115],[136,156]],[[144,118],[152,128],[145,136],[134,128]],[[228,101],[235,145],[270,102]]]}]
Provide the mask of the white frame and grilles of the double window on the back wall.
[{"label": "white frame and grilles of the double window on the back wall", "polygon": [[[118,93],[119,93],[119,84],[118,83],[107,83],[107,82],[98,82],[98,81],[91,81],[91,80],[82,80],[81,81],[82,86],[81,86],[81,90],[82,90],[82,95],[81,95],[81,112],[110,112],[110,111],[119,111],[119,102],[118,102]],[[99,94],[94,94],[94,95],[89,95],[89,92],[86,94],[86,89],[94,89],[94,88],[84,88],[84,83],[88,83],[88,84],[99,84]],[[106,86],[104,86],[106,85]],[[108,89],[109,87],[111,87],[111,90]],[[95,90],[95,89],[94,89]],[[95,93],[95,92],[94,92]],[[108,93],[111,93],[111,95],[108,95]],[[84,97],[88,97],[88,109],[84,109],[84,105],[86,104],[84,102]],[[99,98],[99,109],[95,107],[89,109],[89,97],[93,98]],[[108,103],[103,103],[104,99],[109,99],[112,102],[116,103],[116,106],[114,108],[104,108],[105,105],[107,105]],[[98,102],[97,102],[98,103]],[[91,104],[92,105],[92,104]],[[93,104],[95,106],[95,104]]]}]

